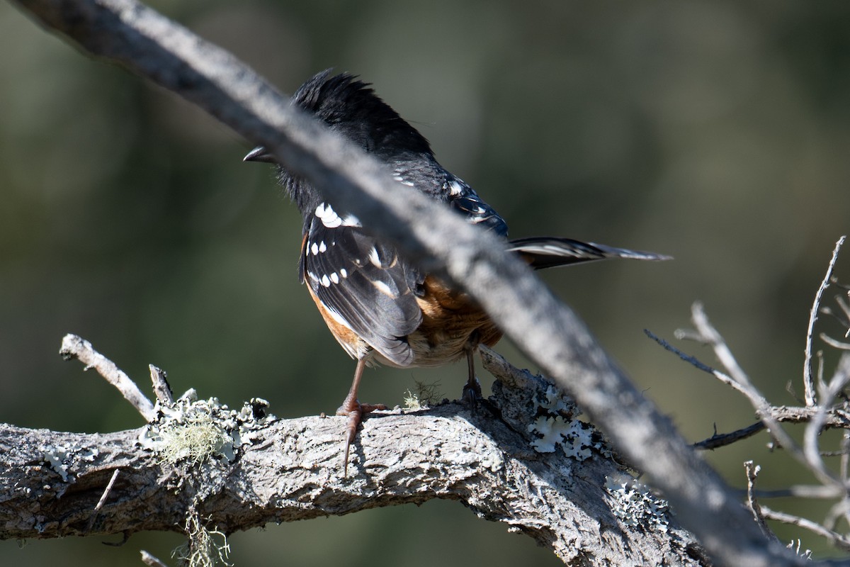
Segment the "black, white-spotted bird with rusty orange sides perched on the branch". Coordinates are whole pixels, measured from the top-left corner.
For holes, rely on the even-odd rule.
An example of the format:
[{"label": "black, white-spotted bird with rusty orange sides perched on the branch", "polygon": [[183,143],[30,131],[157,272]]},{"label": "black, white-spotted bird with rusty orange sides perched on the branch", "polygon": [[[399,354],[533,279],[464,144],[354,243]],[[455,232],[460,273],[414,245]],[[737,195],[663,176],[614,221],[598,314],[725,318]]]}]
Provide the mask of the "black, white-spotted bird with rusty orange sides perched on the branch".
[{"label": "black, white-spotted bird with rusty orange sides perched on the branch", "polygon": [[[445,203],[483,230],[507,238],[507,224],[462,179],[446,171],[428,140],[405,122],[365,82],[322,71],[292,96],[292,104],[324,122],[379,162],[398,190],[417,190]],[[246,162],[275,162],[260,146]],[[303,215],[298,275],[343,349],[357,359],[351,389],[337,410],[348,416],[343,475],[348,450],[364,413],[383,406],[360,404],[357,390],[365,366],[439,366],[466,358],[464,393],[480,392],[473,354],[479,344],[494,345],[501,331],[466,293],[424,273],[350,213],[334,210],[306,179],[278,165],[278,179]],[[556,237],[508,242],[532,268],[550,268],[604,258],[663,260],[635,252]]]}]

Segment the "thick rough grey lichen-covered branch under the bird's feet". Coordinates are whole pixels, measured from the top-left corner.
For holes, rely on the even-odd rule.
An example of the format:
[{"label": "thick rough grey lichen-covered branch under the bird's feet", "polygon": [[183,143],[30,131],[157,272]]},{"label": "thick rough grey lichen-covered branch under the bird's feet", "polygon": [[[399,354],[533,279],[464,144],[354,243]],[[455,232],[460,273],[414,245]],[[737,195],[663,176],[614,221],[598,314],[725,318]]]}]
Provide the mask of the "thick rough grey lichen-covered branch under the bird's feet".
[{"label": "thick rough grey lichen-covered branch under the bird's feet", "polygon": [[[575,405],[497,354],[485,360],[501,380],[488,403],[475,413],[450,403],[372,414],[348,478],[341,417],[242,416],[253,423],[240,442],[201,459],[150,443],[151,429],[164,428],[181,400],[150,427],[115,434],[0,426],[0,538],[181,530],[190,509],[209,529],[231,533],[447,498],[534,537],[567,564],[707,564],[694,537],[587,424],[552,451],[536,450],[538,417],[548,415],[554,430],[569,427]],[[186,411],[179,420],[191,421]]]}]

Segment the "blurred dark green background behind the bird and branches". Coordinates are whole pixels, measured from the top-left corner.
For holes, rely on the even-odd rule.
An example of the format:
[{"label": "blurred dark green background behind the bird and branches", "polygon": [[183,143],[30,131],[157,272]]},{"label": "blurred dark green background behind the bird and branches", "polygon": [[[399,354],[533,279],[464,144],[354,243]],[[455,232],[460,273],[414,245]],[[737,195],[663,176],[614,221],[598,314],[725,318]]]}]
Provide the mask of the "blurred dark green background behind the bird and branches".
[{"label": "blurred dark green background behind the bird and branches", "polygon": [[[740,396],[643,335],[672,338],[702,300],[753,381],[796,403],[808,310],[850,227],[850,4],[154,3],[286,93],[333,66],[372,82],[513,236],[565,235],[672,254],[543,275],[693,440],[753,421]],[[182,100],[89,60],[0,3],[0,420],[139,427],[94,372],[59,359],[88,338],[147,387],[280,417],[333,411],[354,363],[297,284],[301,221],[250,145]],[[837,273],[850,281],[850,251]],[[831,292],[830,292],[831,294]],[[825,330],[839,329],[824,321]],[[694,343],[677,343],[713,363]],[[498,348],[528,366],[505,341]],[[830,353],[829,356],[832,356]],[[834,357],[829,358],[834,363]],[[831,373],[827,366],[827,374]],[[462,365],[369,371],[361,399],[416,380],[456,397]],[[708,455],[732,485],[811,482],[756,439]],[[820,519],[825,505],[770,502]],[[843,526],[842,529],[846,528]],[[832,555],[808,533],[820,557]],[[0,542],[0,564],[137,565],[181,538]],[[456,502],[236,534],[236,564],[559,564]]]}]

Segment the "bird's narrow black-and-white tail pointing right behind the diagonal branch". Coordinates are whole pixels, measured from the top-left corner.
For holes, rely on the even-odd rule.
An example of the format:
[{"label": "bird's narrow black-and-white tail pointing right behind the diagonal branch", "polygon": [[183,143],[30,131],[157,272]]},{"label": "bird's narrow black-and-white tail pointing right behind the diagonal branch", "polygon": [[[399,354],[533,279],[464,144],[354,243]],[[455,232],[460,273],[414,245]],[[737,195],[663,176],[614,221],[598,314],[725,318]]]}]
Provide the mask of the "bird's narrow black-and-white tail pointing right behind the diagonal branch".
[{"label": "bird's narrow black-and-white tail pointing right behind the diagonal branch", "polygon": [[593,242],[581,242],[554,236],[531,236],[509,241],[507,250],[517,252],[532,268],[544,269],[567,264],[578,264],[605,258],[632,258],[635,260],[670,260],[671,256],[653,252],[638,252],[615,248]]}]

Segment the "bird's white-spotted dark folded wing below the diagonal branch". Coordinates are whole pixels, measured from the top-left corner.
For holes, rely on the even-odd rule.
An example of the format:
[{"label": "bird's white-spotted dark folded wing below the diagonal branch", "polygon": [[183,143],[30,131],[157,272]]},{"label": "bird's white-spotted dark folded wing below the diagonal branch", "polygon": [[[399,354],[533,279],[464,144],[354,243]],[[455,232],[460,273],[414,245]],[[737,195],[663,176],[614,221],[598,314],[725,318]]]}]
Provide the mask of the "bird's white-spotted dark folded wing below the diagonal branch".
[{"label": "bird's white-spotted dark folded wing below the diagonal branch", "polygon": [[320,301],[388,360],[413,361],[407,335],[422,322],[411,287],[418,274],[356,226],[326,227],[313,218],[304,241],[303,278]]}]

